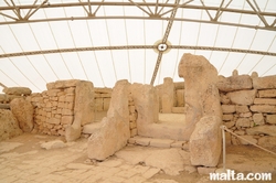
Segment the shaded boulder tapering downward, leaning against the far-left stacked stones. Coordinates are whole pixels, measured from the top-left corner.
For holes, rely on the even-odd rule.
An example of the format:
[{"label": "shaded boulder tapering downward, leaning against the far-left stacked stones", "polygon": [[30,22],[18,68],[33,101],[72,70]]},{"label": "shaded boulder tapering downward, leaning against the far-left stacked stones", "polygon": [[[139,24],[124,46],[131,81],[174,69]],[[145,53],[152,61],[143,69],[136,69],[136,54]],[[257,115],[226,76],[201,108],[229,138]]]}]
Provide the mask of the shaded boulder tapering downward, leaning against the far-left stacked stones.
[{"label": "shaded boulder tapering downward, leaning against the far-left stacked stones", "polygon": [[14,98],[10,103],[11,111],[19,121],[19,127],[24,132],[31,132],[33,129],[33,106],[23,98]]}]

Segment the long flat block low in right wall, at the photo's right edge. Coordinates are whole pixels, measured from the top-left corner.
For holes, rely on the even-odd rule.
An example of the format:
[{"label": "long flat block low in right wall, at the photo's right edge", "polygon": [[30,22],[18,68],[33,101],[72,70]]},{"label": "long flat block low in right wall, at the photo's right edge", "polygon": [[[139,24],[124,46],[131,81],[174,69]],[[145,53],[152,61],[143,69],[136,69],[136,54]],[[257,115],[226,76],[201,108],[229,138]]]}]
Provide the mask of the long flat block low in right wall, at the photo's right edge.
[{"label": "long flat block low in right wall, at the photo's right edge", "polygon": [[276,136],[276,126],[257,126],[246,129],[246,133],[251,136],[255,134],[267,134]]}]

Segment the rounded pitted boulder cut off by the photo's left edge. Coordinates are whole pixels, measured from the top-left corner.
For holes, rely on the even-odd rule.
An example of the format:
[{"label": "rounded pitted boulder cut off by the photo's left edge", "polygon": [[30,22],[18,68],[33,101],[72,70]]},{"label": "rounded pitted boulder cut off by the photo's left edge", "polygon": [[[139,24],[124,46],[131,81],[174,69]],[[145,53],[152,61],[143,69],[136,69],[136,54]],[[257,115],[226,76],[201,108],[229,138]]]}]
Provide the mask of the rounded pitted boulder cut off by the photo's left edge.
[{"label": "rounded pitted boulder cut off by the photo's left edge", "polygon": [[10,110],[0,109],[0,141],[20,136],[22,130],[19,128],[17,118]]}]

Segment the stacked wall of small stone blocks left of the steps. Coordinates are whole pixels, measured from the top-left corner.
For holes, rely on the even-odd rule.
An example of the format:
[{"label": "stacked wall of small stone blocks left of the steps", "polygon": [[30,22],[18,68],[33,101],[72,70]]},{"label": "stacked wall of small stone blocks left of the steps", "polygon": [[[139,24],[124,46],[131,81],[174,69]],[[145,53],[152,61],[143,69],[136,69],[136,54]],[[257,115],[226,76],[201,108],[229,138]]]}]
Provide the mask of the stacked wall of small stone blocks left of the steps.
[{"label": "stacked wall of small stone blocks left of the steps", "polygon": [[59,80],[47,84],[47,90],[32,94],[34,130],[39,133],[64,136],[74,120],[75,87],[78,80]]}]

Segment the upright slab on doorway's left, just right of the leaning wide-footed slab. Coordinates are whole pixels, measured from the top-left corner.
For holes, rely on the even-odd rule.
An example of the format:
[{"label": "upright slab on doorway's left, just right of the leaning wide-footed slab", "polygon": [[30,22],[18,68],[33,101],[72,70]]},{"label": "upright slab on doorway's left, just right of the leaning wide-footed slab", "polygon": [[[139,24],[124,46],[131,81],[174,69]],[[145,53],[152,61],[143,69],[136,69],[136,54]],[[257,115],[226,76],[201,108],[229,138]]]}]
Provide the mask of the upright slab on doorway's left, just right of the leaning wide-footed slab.
[{"label": "upright slab on doorway's left, just right of the leaning wide-footed slab", "polygon": [[151,85],[132,84],[131,95],[138,111],[137,130],[139,136],[151,137],[149,125],[158,121],[159,103]]}]

